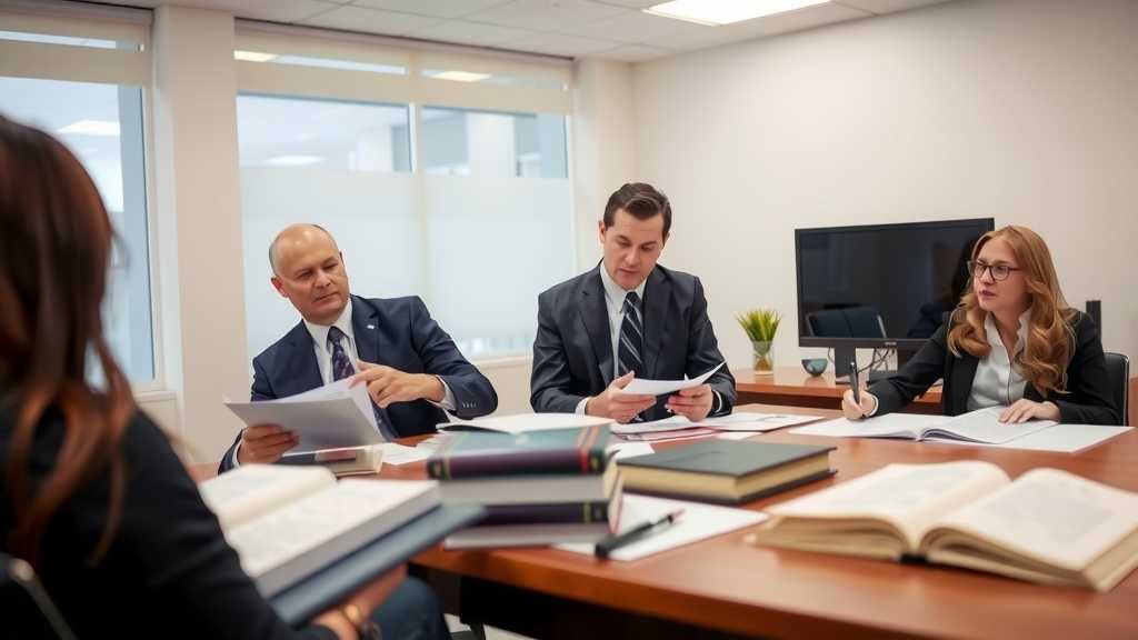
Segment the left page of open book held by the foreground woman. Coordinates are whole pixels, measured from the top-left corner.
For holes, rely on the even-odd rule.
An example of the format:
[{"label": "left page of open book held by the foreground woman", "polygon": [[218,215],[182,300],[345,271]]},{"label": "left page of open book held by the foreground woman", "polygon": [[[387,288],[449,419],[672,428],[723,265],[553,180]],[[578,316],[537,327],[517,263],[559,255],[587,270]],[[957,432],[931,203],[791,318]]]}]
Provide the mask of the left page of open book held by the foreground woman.
[{"label": "left page of open book held by the foreground woman", "polygon": [[323,467],[244,465],[199,484],[198,491],[229,530],[335,484],[336,476]]}]

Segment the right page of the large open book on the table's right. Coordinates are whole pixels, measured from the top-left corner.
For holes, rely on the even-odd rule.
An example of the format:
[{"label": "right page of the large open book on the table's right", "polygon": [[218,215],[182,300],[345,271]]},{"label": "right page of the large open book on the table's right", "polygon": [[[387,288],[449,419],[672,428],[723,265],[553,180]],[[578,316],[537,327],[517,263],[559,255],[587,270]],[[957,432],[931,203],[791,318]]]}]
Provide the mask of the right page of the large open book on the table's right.
[{"label": "right page of the large open book on the table's right", "polygon": [[971,533],[1057,567],[1082,571],[1138,531],[1138,493],[1058,469],[1034,469],[950,514],[938,526]]}]

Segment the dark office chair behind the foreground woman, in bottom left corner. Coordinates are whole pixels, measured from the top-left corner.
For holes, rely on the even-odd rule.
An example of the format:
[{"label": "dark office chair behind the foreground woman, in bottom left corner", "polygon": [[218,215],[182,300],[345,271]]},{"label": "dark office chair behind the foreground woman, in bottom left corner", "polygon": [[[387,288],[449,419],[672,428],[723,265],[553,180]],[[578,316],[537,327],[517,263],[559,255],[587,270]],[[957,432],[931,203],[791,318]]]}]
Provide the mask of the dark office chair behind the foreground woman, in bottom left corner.
[{"label": "dark office chair behind the foreground woman, in bottom left corner", "polygon": [[0,602],[3,602],[5,633],[15,638],[58,638],[75,634],[43,590],[32,565],[0,551]]}]

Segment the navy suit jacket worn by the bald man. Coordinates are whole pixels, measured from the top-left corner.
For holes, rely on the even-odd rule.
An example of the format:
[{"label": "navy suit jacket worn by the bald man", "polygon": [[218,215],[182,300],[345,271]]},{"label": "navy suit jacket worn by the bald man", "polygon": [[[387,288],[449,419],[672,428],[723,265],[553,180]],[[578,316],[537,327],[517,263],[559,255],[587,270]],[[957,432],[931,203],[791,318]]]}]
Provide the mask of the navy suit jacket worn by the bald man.
[{"label": "navy suit jacket worn by the bald man", "polygon": [[[361,360],[443,378],[454,395],[454,415],[459,418],[477,418],[497,409],[490,381],[462,356],[419,296],[352,296],[352,329]],[[288,397],[323,384],[312,334],[304,321],[253,359],[254,402]],[[432,433],[435,425],[447,421],[446,412],[426,400],[396,402],[385,413],[401,437]],[[240,440],[239,434],[222,458],[220,470],[232,467],[233,448]]]}]

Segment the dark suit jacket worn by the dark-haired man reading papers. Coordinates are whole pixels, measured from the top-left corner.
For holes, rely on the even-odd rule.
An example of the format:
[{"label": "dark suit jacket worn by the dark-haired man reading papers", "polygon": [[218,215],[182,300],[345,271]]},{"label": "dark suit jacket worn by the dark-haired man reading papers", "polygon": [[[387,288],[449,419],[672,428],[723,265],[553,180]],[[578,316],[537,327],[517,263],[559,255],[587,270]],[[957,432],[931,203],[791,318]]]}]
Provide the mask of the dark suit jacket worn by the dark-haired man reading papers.
[{"label": "dark suit jacket worn by the dark-haired man reading papers", "polygon": [[[529,402],[538,413],[572,413],[584,397],[602,393],[612,383],[612,333],[601,269],[597,265],[537,298]],[[657,264],[644,286],[643,304],[645,377],[695,377],[724,361],[699,278]],[[735,378],[727,366],[708,384],[721,399],[714,415],[731,413]],[[648,418],[668,417],[667,400],[661,396],[648,410]]]}]

